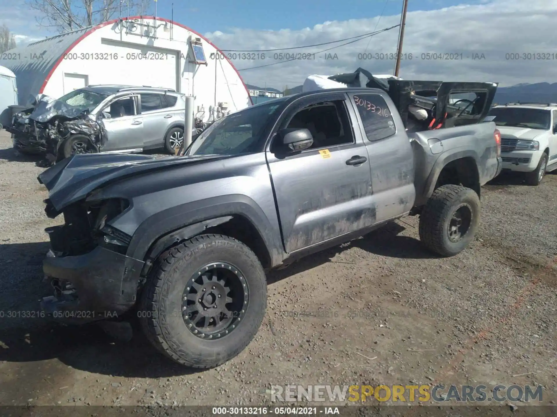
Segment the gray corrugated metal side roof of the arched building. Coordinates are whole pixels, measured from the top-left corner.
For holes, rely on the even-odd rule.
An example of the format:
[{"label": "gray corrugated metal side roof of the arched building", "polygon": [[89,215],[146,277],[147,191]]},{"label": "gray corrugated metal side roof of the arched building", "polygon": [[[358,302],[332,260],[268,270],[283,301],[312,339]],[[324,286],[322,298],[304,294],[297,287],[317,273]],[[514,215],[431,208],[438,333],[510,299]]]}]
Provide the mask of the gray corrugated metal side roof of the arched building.
[{"label": "gray corrugated metal side roof of the arched building", "polygon": [[37,95],[43,82],[58,58],[90,28],[63,33],[33,42],[26,46],[10,49],[2,54],[0,65],[11,69],[16,75],[17,96],[19,103],[25,105],[30,95]]}]

